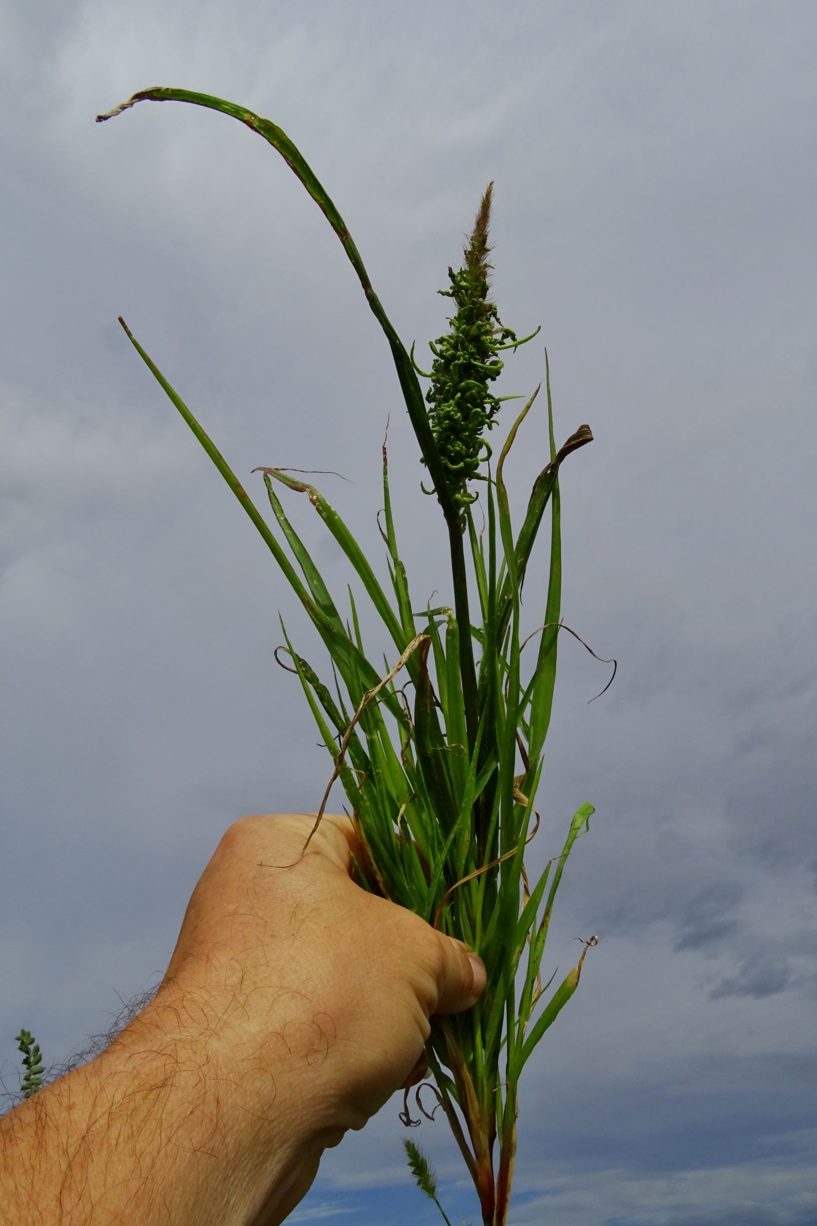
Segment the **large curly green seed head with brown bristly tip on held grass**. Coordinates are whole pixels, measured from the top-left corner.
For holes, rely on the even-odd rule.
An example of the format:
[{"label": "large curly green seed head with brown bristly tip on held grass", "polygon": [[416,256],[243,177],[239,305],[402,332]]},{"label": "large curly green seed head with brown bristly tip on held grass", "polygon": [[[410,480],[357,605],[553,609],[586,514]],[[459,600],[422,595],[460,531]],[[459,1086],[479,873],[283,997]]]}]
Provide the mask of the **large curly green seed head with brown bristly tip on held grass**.
[{"label": "large curly green seed head with brown bristly tip on held grass", "polygon": [[467,483],[474,481],[487,443],[486,429],[493,427],[499,400],[489,390],[498,378],[502,362],[498,349],[515,333],[499,322],[496,303],[489,302],[488,223],[491,221],[489,183],[480,204],[474,232],[465,248],[462,267],[448,270],[450,289],[439,293],[453,298],[456,314],[451,327],[432,346],[434,364],[431,387],[426,394],[428,419],[449,478],[455,500],[465,506],[476,494]]}]

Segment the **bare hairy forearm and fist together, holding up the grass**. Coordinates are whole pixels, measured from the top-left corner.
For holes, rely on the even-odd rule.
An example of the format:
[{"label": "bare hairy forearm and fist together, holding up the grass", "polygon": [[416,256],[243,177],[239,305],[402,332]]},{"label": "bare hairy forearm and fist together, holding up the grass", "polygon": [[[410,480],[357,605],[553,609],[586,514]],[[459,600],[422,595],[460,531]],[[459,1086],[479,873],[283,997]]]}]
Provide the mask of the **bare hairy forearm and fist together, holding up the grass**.
[{"label": "bare hairy forearm and fist together, holding up the grass", "polygon": [[302,855],[313,823],[234,823],[152,1003],[0,1119],[4,1224],[277,1226],[422,1075],[429,1016],[469,1008],[485,967],[352,880],[348,818]]}]

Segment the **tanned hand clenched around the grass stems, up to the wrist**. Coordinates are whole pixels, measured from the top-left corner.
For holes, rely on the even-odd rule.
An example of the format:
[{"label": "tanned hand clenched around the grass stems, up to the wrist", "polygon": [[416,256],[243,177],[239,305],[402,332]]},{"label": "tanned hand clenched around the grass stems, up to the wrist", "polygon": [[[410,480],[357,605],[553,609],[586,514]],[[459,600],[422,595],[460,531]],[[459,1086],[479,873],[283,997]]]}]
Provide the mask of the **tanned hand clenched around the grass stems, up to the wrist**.
[{"label": "tanned hand clenched around the grass stems, up to the wrist", "polygon": [[324,817],[302,857],[313,824],[282,814],[227,830],[151,1007],[180,1041],[204,1042],[247,1152],[263,1154],[282,1119],[309,1152],[290,1208],[323,1149],[417,1079],[429,1016],[485,987],[464,945],[352,880],[351,852],[364,853],[348,818]]}]

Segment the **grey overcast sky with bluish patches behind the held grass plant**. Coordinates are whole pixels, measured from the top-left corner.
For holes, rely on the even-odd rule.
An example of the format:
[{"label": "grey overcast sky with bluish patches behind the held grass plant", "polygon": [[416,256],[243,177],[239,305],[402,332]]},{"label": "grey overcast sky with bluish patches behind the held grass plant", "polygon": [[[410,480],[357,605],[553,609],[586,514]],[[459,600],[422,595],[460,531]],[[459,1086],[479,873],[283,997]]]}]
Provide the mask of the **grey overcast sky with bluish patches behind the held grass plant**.
[{"label": "grey overcast sky with bluish patches behind the held grass plant", "polygon": [[[339,205],[404,340],[496,181],[503,320],[542,325],[566,462],[564,615],[531,868],[584,801],[545,965],[597,933],[529,1065],[513,1226],[817,1224],[815,199],[817,6],[752,0],[5,0],[0,9],[0,1064],[99,1032],[167,965],[244,813],[309,810],[325,752],[272,658],[271,557],[117,325],[123,314],[259,505],[320,478],[380,557],[390,414],[415,592],[438,511],[385,342],[294,177]],[[418,349],[422,352],[422,349]],[[540,338],[503,394],[543,374]],[[542,414],[513,465],[524,506]],[[292,512],[342,592],[332,542]],[[541,624],[542,573],[525,617]],[[292,1221],[435,1221],[397,1100]],[[443,1123],[412,1133],[458,1224]]]}]

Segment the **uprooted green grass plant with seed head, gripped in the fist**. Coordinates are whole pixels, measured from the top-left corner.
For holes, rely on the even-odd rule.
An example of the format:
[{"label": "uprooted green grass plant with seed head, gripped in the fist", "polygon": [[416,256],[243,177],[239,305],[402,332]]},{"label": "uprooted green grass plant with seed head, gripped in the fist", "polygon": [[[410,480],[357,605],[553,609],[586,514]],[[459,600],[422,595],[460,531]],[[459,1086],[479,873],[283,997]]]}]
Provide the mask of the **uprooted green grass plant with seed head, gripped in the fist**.
[{"label": "uprooted green grass plant with seed head, gripped in the fist", "polygon": [[[264,137],[337,234],[391,349],[431,482],[427,493],[439,503],[448,536],[450,604],[435,608],[418,609],[410,593],[391,511],[385,444],[382,536],[388,591],[339,512],[299,474],[274,467],[255,470],[263,474],[271,508],[266,521],[120,319],[134,348],[253,521],[329,653],[332,689],[329,678],[321,679],[299,653],[298,635],[282,623],[286,647],[280,650],[301,683],[332,761],[314,829],[332,783],[340,780],[366,848],[366,863],[356,864],[359,884],[465,942],[486,964],[487,988],[480,1002],[466,1014],[432,1019],[427,1059],[433,1084],[415,1090],[415,1103],[418,1113],[429,1116],[422,1095],[431,1092],[437,1100],[474,1181],[483,1226],[504,1226],[516,1152],[520,1076],[575,992],[588,948],[595,944],[595,938],[584,942],[577,965],[548,994],[553,977],[543,987],[541,965],[553,900],[573,845],[589,829],[593,805],[577,809],[561,853],[546,864],[532,888],[524,864],[525,847],[540,825],[534,805],[563,628],[558,476],[568,455],[593,435],[581,425],[557,449],[546,354],[548,450],[523,522],[514,527],[505,465],[540,389],[508,430],[494,467],[485,435],[497,424],[501,400],[510,398],[492,391],[502,370],[499,353],[515,351],[531,337],[518,340],[504,327],[489,298],[492,186],[481,201],[461,267],[449,270],[449,288],[442,292],[455,308],[451,326],[432,343],[432,369],[424,375],[415,363],[413,347],[411,352],[405,348],[389,321],[335,204],[280,128],[234,103],[172,88],[141,91],[98,119],[109,119],[142,101],[205,107]],[[422,378],[428,380],[426,394]],[[288,493],[307,495],[357,576],[358,593],[362,588],[380,618],[394,644],[385,668],[363,641],[351,587],[346,614],[325,585],[285,508]],[[474,517],[477,497],[486,516],[483,531],[477,531]],[[550,527],[547,600],[523,639],[521,588],[543,524]],[[525,663],[531,661],[527,669],[523,667],[526,642],[535,644],[525,656]],[[420,1122],[411,1118],[408,1091],[401,1118],[406,1124]],[[445,1217],[424,1159],[413,1143],[406,1149],[420,1187]]]}]

